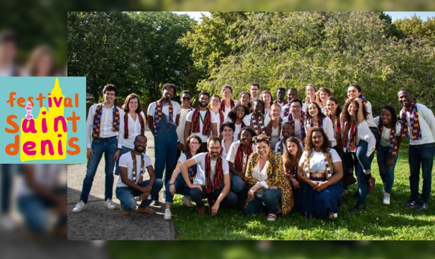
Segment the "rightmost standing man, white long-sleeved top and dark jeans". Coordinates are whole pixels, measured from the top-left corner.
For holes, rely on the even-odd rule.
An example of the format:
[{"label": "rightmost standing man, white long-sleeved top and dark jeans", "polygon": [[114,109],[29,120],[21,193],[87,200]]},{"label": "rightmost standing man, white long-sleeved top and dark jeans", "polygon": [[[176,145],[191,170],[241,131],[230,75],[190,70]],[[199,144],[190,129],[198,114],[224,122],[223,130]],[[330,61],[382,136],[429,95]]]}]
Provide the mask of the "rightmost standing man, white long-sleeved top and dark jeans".
[{"label": "rightmost standing man, white long-sleeved top and dark jeans", "polygon": [[[435,117],[432,110],[413,101],[411,92],[408,89],[400,89],[398,97],[403,106],[400,111],[402,138],[408,136],[410,138],[408,159],[411,195],[405,208],[425,211],[428,209],[428,201],[431,196],[435,152]],[[423,188],[419,195],[420,167]]]}]

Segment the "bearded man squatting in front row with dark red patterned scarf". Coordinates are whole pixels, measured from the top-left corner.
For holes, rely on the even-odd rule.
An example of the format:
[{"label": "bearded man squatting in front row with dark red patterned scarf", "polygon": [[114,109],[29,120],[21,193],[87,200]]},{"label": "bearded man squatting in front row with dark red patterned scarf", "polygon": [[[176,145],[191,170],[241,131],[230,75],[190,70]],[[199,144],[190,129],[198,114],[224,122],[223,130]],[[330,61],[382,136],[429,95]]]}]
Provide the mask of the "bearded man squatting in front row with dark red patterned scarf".
[{"label": "bearded man squatting in front row with dark red patterned scarf", "polygon": [[[233,206],[237,202],[237,195],[230,191],[230,174],[228,162],[219,155],[221,150],[220,138],[211,136],[207,140],[206,153],[196,154],[180,165],[181,174],[190,188],[191,199],[198,207],[198,214],[205,214],[202,199],[207,198],[212,216],[218,213],[219,205]],[[188,168],[197,164],[197,173],[193,184],[189,180]]]}]

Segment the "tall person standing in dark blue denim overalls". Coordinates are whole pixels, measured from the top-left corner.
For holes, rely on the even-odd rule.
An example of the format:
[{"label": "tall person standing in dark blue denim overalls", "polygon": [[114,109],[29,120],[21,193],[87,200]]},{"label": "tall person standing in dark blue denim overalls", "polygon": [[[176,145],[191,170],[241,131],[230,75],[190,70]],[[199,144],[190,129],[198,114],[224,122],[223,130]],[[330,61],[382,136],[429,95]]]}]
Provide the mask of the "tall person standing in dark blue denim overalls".
[{"label": "tall person standing in dark blue denim overalls", "polygon": [[[171,180],[177,162],[177,126],[181,108],[177,102],[171,101],[176,88],[173,84],[164,84],[162,98],[148,106],[148,126],[154,136],[155,177],[162,179],[165,171],[165,183]],[[165,169],[166,165],[166,169]],[[158,196],[153,205],[158,204]]]}]

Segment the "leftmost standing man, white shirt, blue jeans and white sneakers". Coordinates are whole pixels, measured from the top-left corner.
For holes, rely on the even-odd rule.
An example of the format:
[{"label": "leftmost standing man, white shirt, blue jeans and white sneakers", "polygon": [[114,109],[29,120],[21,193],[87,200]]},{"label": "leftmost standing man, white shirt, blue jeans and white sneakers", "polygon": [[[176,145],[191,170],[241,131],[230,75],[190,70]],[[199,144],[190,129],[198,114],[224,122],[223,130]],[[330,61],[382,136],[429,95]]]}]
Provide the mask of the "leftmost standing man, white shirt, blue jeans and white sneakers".
[{"label": "leftmost standing man, white shirt, blue jeans and white sneakers", "polygon": [[119,159],[124,139],[124,120],[121,119],[124,117],[124,111],[114,105],[117,94],[118,88],[116,86],[106,85],[103,88],[104,102],[94,104],[89,108],[86,120],[87,170],[80,201],[72,210],[73,212],[81,212],[86,209],[92,182],[103,153],[106,165],[104,205],[111,210],[116,209],[116,205],[112,202],[113,169],[116,160]]}]

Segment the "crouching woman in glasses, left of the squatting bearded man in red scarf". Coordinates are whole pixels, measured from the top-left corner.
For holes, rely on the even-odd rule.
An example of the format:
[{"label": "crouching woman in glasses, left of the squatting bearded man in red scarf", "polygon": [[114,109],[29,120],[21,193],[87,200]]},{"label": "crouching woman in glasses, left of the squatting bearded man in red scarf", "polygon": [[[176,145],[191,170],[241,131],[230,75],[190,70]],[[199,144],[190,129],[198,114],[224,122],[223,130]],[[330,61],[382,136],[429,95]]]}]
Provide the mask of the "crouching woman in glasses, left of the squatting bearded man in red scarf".
[{"label": "crouching woman in glasses, left of the squatting bearded man in red scarf", "polygon": [[[171,206],[174,200],[175,194],[184,195],[181,197],[181,201],[187,207],[194,207],[190,201],[190,188],[187,187],[186,182],[184,181],[183,176],[181,175],[180,165],[184,163],[186,160],[194,157],[196,155],[196,151],[198,151],[199,146],[201,146],[201,138],[197,135],[191,135],[187,138],[186,146],[184,152],[178,158],[177,165],[175,166],[174,172],[172,173],[171,180],[166,184],[165,192],[165,215],[163,218],[165,220],[172,219]],[[190,181],[193,182],[196,174],[196,164],[189,167],[189,178]]]}]

